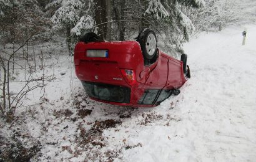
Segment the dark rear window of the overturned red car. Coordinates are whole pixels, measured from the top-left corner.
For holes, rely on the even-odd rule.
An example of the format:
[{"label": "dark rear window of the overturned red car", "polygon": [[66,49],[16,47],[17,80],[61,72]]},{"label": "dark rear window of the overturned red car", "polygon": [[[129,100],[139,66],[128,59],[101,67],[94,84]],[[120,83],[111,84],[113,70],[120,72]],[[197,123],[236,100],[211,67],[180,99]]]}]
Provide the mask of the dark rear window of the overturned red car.
[{"label": "dark rear window of the overturned red car", "polygon": [[129,103],[130,88],[103,83],[82,82],[89,97],[109,102]]}]

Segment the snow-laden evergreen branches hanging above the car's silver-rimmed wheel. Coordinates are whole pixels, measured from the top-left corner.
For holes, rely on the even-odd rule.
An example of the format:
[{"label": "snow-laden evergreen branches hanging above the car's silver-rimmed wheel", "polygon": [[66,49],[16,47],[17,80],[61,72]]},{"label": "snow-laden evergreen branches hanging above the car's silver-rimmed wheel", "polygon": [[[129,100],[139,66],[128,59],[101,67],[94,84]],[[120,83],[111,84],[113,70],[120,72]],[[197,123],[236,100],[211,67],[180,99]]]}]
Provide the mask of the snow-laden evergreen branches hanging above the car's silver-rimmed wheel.
[{"label": "snow-laden evergreen branches hanging above the car's silver-rimmed wheel", "polygon": [[[136,1],[137,2],[137,1]],[[182,42],[189,41],[189,34],[194,25],[182,11],[182,7],[199,8],[205,5],[203,0],[144,0],[131,4],[139,10],[130,11],[133,16],[142,20],[142,28],[150,27],[162,35],[165,49],[182,51]],[[144,24],[147,24],[146,26]]]}]

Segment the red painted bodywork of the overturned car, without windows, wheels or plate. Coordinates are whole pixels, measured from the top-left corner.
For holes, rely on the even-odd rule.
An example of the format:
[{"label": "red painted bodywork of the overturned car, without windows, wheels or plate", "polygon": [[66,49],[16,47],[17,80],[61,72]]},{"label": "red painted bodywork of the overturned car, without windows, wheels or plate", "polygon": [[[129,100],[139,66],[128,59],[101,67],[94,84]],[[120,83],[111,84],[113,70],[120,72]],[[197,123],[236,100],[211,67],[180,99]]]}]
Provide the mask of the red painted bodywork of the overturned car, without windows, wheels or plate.
[{"label": "red painted bodywork of the overturned car, without windows, wheels or plate", "polygon": [[[86,57],[86,50],[108,50],[109,57]],[[135,41],[124,42],[84,42],[77,43],[74,50],[74,64],[77,78],[81,81],[107,83],[129,87],[130,103],[99,102],[132,107],[153,107],[138,105],[145,89],[173,89],[181,87],[186,79],[183,74],[182,61],[174,59],[159,50],[157,61],[144,66],[140,45]],[[129,85],[121,69],[134,70],[137,84]],[[97,76],[97,77],[96,77]]]}]

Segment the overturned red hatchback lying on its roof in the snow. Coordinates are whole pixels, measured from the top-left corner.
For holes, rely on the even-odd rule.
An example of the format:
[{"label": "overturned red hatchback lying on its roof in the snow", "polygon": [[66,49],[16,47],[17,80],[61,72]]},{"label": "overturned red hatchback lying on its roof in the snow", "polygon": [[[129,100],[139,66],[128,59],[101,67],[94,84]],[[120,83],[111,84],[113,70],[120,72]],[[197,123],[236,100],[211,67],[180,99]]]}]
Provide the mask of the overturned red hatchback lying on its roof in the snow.
[{"label": "overturned red hatchback lying on its roof in the snow", "polygon": [[157,49],[155,32],[137,41],[103,42],[93,32],[74,49],[76,75],[93,100],[130,107],[154,107],[179,94],[190,70],[187,55],[174,59]]}]

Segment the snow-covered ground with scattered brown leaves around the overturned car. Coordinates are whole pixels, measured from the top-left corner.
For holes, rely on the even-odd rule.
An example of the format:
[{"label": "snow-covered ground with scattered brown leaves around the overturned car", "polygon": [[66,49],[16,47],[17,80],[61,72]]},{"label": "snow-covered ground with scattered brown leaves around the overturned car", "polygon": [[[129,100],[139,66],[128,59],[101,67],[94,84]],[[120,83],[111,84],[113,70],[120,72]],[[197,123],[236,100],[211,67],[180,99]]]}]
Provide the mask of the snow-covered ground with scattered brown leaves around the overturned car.
[{"label": "snow-covered ground with scattered brown leaves around the overturned car", "polygon": [[1,153],[19,141],[38,148],[32,161],[255,161],[256,26],[247,26],[244,46],[243,29],[185,44],[191,79],[154,108],[94,102],[66,56],[49,59],[56,79],[47,100],[34,92],[35,106],[18,109],[16,122],[1,119]]}]

